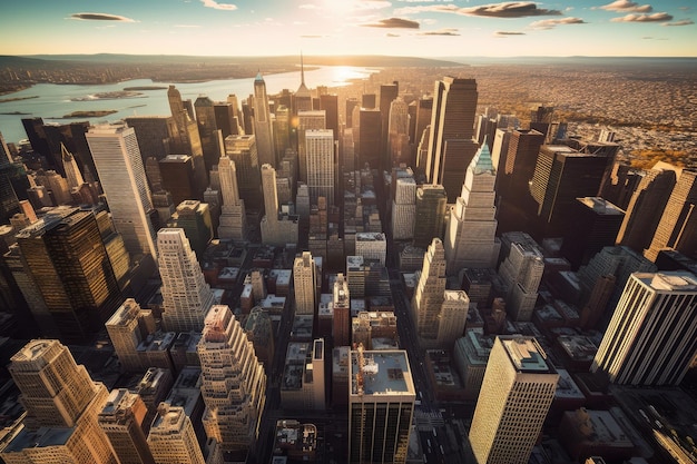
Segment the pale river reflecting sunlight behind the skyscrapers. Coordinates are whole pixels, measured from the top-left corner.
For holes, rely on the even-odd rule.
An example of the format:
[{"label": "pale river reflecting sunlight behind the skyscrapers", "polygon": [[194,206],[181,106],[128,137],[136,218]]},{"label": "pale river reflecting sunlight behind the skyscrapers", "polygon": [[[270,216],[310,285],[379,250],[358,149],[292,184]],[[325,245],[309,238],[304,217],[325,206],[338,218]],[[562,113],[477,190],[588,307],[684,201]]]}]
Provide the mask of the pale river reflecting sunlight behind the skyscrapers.
[{"label": "pale river reflecting sunlight behind the skyscrapers", "polygon": [[[351,80],[366,79],[377,69],[348,66],[325,66],[305,71],[305,85],[308,88],[317,86],[340,87],[351,83]],[[266,92],[277,93],[283,89],[295,91],[301,83],[300,70],[264,76]],[[6,141],[17,142],[27,138],[22,127],[22,118],[40,117],[45,122],[70,122],[91,119],[97,121],[114,121],[127,116],[165,116],[170,115],[167,101],[167,90],[139,90],[141,96],[134,98],[99,99],[90,101],[72,101],[73,98],[85,98],[100,92],[122,90],[125,87],[159,86],[167,87],[169,82],[153,82],[149,79],[135,79],[118,83],[106,85],[56,85],[39,83],[29,89],[0,96],[2,99],[27,98],[14,101],[0,102],[0,132]],[[235,93],[239,102],[254,92],[254,78],[212,80],[206,82],[175,83],[183,99],[196,100],[199,95],[207,95],[214,101],[224,101],[228,95]],[[101,118],[65,119],[62,116],[72,111],[117,110],[117,112]],[[17,112],[17,113],[14,113]]]}]

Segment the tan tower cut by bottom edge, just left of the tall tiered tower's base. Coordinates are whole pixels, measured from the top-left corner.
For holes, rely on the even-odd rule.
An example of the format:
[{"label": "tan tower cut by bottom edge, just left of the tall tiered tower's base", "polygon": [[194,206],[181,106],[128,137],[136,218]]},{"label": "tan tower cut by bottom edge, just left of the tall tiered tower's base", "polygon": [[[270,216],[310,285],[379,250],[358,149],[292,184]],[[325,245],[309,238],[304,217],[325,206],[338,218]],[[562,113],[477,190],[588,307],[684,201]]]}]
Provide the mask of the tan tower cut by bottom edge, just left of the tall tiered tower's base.
[{"label": "tan tower cut by bottom edge, just left of the tall tiered tower's base", "polygon": [[157,464],[205,464],[192,419],[181,406],[160,403],[148,434]]}]

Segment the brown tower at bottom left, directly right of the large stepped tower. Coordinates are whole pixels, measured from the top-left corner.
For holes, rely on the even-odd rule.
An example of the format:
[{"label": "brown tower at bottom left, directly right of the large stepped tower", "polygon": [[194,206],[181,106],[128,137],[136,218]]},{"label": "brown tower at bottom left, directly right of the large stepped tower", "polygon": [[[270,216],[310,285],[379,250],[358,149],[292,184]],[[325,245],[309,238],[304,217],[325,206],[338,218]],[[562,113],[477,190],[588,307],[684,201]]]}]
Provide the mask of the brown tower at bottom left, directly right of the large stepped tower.
[{"label": "brown tower at bottom left, directly right of the large stepped tower", "polygon": [[112,389],[98,423],[111,443],[120,464],[155,464],[143,421],[148,412],[137,393],[126,388]]}]

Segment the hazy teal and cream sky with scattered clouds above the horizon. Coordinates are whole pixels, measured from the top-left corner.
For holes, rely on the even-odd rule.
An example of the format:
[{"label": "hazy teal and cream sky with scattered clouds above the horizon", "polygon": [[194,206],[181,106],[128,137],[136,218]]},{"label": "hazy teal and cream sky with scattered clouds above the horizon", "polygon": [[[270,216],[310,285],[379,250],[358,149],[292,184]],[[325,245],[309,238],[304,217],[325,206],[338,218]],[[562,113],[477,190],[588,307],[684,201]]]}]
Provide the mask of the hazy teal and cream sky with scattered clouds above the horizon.
[{"label": "hazy teal and cream sky with scattered clouds above the horizon", "polygon": [[695,0],[17,0],[0,55],[697,57]]}]

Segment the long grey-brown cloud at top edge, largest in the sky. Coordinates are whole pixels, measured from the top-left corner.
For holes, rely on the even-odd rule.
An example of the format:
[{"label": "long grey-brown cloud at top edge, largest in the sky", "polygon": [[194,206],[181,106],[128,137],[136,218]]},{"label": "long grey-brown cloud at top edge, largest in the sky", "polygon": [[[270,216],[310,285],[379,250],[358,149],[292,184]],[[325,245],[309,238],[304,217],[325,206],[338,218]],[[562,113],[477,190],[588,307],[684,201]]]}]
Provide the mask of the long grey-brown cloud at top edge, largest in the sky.
[{"label": "long grey-brown cloud at top edge, largest in the sky", "polygon": [[428,4],[420,7],[405,7],[395,10],[400,14],[411,14],[420,12],[454,13],[462,16],[478,16],[487,18],[527,18],[536,16],[559,16],[559,10],[548,10],[538,8],[537,3],[526,1],[513,1],[504,3],[482,4],[479,7],[460,8],[454,4]]}]

